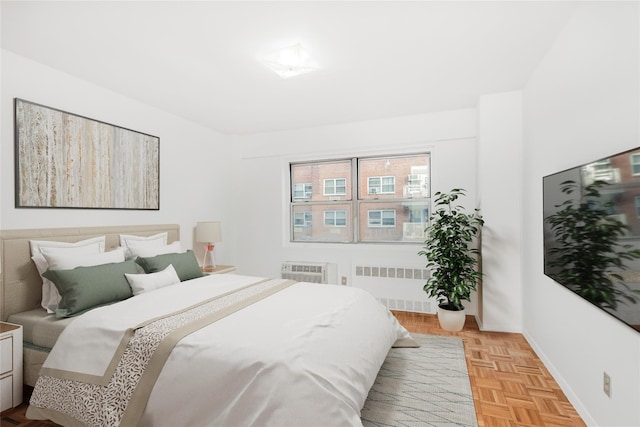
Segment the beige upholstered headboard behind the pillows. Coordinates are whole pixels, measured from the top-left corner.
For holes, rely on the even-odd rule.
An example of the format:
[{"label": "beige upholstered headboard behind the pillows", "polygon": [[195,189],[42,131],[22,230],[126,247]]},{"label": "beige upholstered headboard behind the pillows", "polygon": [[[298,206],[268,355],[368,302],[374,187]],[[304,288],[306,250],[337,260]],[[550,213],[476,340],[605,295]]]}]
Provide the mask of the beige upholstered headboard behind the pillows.
[{"label": "beige upholstered headboard behind the pillows", "polygon": [[11,314],[40,306],[42,279],[31,260],[29,240],[77,242],[104,235],[108,251],[119,246],[120,234],[150,236],[165,231],[169,243],[180,240],[177,224],[0,230],[0,319],[7,320]]}]

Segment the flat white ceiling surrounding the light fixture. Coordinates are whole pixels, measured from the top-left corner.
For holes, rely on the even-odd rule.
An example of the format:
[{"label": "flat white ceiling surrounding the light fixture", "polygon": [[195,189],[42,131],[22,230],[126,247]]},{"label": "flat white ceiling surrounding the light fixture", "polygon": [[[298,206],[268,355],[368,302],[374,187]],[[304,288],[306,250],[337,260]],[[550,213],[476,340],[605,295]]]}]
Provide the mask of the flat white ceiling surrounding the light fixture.
[{"label": "flat white ceiling surrounding the light fixture", "polygon": [[[521,89],[580,4],[1,2],[2,47],[227,134],[475,107]],[[321,69],[260,55],[300,42]]]}]

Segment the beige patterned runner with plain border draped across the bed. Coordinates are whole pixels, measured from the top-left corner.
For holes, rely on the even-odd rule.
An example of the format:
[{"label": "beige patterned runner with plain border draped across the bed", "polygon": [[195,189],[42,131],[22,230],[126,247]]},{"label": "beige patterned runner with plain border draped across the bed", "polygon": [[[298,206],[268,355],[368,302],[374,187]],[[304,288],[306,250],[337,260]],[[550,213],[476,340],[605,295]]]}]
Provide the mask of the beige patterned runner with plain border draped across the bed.
[{"label": "beige patterned runner with plain border draped across the bed", "polygon": [[43,369],[27,416],[65,426],[135,426],[178,341],[294,283],[264,279],[138,325],[125,334],[102,377]]}]

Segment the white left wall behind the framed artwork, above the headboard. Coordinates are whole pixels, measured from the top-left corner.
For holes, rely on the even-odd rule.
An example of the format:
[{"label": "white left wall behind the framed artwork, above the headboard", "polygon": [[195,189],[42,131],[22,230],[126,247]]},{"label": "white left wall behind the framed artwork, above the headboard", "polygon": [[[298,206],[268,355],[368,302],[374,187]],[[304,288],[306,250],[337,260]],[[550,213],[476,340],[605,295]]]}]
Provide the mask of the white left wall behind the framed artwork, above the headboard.
[{"label": "white left wall behind the framed artwork, above the headboard", "polygon": [[[232,212],[222,177],[230,173],[222,135],[107,89],[2,50],[0,103],[0,227],[2,229],[178,223],[192,247],[197,221]],[[161,90],[161,88],[159,88]],[[13,99],[22,98],[160,137],[160,210],[16,209],[14,205]],[[224,234],[224,232],[223,232]],[[226,242],[218,262],[230,262]],[[197,245],[201,253],[202,249]]]}]

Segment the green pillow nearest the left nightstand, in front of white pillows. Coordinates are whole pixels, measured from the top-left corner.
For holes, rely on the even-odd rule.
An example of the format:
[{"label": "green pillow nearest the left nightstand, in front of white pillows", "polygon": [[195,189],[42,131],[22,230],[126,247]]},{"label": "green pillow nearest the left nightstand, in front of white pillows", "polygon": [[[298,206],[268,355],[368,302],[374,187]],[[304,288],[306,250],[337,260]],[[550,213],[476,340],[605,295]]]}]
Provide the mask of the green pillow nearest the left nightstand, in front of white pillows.
[{"label": "green pillow nearest the left nightstand, in front of white pillows", "polygon": [[133,295],[125,274],[136,273],[133,261],[76,267],[72,270],[47,270],[61,295],[56,317],[71,317],[91,308],[127,299]]}]

